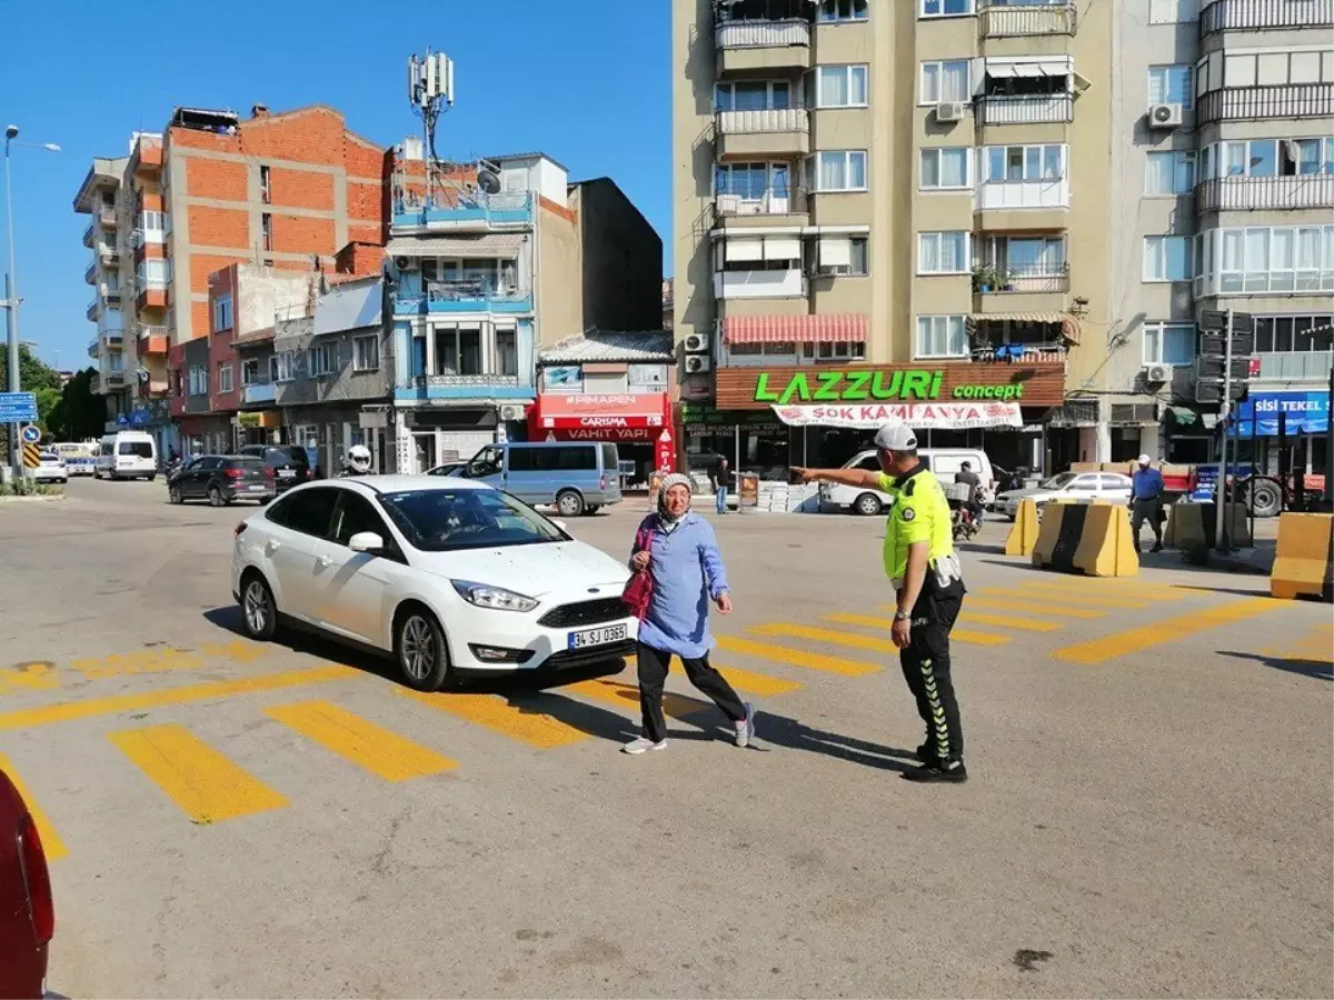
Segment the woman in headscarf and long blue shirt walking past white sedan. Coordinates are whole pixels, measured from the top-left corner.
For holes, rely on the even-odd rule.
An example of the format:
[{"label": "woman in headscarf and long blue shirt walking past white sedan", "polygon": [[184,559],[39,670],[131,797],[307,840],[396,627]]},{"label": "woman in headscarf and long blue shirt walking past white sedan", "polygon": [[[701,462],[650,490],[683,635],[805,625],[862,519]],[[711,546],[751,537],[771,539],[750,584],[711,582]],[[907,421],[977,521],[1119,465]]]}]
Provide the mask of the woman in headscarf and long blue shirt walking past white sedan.
[{"label": "woman in headscarf and long blue shirt walking past white sedan", "polygon": [[708,663],[714,637],[708,632],[708,604],[730,615],[723,557],[712,525],[690,509],[688,476],[664,476],[658,513],[648,515],[635,533],[630,568],[646,573],[647,600],[639,624],[639,708],[643,736],[622,749],[643,753],[667,748],[663,685],[672,656],[679,656],[690,683],[708,695],[736,731],[736,745],[755,736],[755,707],[743,704],[732,685]]}]

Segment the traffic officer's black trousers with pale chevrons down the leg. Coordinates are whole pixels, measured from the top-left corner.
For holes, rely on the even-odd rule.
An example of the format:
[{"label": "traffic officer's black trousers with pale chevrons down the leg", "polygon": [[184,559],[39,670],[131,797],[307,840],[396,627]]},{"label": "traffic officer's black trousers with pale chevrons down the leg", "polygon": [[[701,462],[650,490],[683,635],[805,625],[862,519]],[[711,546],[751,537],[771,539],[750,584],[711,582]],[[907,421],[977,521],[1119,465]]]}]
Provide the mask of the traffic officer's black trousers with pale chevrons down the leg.
[{"label": "traffic officer's black trousers with pale chevrons down the leg", "polygon": [[926,723],[926,743],[935,760],[963,760],[963,724],[950,677],[950,629],[963,607],[963,583],[940,587],[927,571],[927,583],[912,608],[911,641],[899,651],[903,679]]}]

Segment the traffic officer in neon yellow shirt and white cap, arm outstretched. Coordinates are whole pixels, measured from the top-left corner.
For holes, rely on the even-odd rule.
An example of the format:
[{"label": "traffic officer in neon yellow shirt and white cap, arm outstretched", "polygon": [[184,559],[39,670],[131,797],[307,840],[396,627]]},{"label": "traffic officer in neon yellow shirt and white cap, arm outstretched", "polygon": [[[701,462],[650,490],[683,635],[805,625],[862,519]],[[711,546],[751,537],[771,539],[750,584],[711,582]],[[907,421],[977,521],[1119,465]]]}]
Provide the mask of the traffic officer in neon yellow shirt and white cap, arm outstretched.
[{"label": "traffic officer in neon yellow shirt and white cap, arm outstretched", "polygon": [[894,503],[884,531],[884,573],[898,595],[892,637],[926,743],[922,767],[911,781],[966,781],[963,727],[950,676],[950,629],[963,604],[963,572],[954,552],[950,503],[940,483],[916,453],[916,435],[886,424],[875,435],[883,472],[868,469],[794,469],[802,481],[824,480],[888,493]]}]

